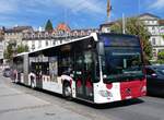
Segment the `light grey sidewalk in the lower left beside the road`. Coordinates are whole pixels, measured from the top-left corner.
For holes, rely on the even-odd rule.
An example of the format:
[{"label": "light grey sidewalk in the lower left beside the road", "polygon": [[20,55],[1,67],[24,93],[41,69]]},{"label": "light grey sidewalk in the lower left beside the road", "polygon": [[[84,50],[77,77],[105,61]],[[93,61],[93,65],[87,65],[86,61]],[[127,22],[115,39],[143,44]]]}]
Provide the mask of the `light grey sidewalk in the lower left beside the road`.
[{"label": "light grey sidewalk in the lower left beside the road", "polygon": [[[0,76],[0,80],[3,77]],[[90,120],[0,82],[0,120]]]}]

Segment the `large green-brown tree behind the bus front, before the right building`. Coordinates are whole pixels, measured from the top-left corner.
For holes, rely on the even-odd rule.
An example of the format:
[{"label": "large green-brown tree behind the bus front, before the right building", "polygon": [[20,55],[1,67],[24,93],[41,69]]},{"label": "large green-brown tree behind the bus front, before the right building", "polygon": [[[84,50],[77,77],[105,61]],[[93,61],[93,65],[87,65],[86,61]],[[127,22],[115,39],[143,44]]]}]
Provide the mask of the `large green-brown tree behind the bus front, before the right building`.
[{"label": "large green-brown tree behind the bus front, before the right building", "polygon": [[[112,25],[110,31],[114,33],[122,33],[122,22],[121,20],[117,21],[114,25]],[[137,17],[129,17],[126,20],[126,34],[137,35],[140,37],[145,60],[150,60],[152,58],[152,46],[149,41],[150,33],[144,27],[144,24],[138,20]]]}]

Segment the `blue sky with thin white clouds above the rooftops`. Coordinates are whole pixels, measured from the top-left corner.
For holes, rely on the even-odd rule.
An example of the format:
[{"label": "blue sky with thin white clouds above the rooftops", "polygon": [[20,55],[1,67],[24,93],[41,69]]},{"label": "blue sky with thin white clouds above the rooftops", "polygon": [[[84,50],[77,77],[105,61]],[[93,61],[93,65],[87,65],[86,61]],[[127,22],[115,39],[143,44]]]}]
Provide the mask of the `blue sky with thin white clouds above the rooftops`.
[{"label": "blue sky with thin white clouds above the rooftops", "polygon": [[[153,13],[164,19],[164,0],[110,0],[112,16]],[[0,0],[0,26],[30,25],[44,27],[47,20],[54,27],[65,22],[71,28],[97,28],[107,21],[107,0]]]}]

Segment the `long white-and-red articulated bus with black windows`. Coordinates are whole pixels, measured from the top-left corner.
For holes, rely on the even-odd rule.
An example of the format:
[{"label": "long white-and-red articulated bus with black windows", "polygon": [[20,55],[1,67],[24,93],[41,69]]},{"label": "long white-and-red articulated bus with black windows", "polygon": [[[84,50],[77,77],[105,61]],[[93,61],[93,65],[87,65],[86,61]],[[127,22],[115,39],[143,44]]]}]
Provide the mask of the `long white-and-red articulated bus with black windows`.
[{"label": "long white-and-red articulated bus with black windows", "polygon": [[15,82],[93,104],[147,94],[143,56],[137,36],[91,34],[17,55]]}]

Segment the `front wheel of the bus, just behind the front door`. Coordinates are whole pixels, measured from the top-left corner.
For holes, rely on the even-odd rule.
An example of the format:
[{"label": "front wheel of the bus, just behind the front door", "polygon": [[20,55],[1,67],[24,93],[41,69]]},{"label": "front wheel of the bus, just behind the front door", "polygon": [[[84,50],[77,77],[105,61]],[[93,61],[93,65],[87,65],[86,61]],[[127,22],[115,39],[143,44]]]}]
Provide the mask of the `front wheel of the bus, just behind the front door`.
[{"label": "front wheel of the bus, just behind the front door", "polygon": [[62,96],[67,98],[68,100],[72,99],[72,91],[69,82],[63,83],[62,87]]}]

